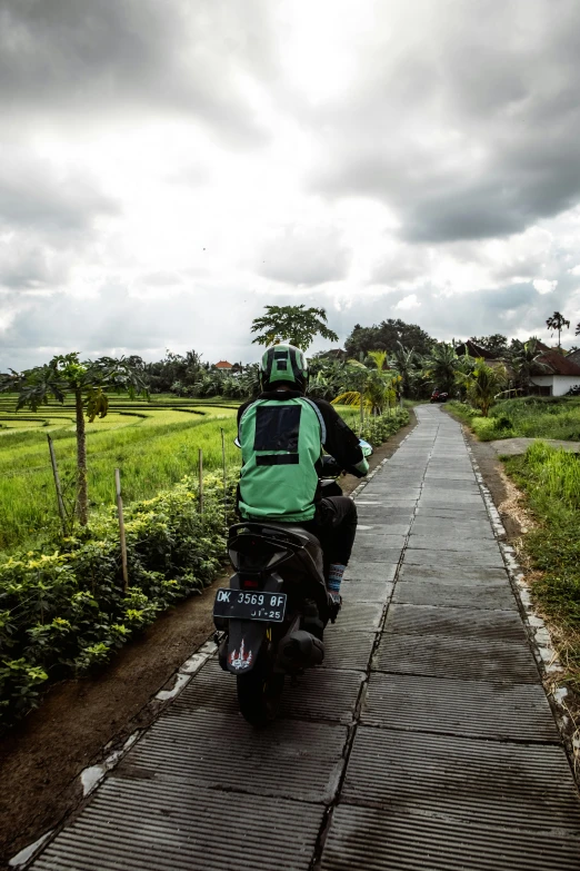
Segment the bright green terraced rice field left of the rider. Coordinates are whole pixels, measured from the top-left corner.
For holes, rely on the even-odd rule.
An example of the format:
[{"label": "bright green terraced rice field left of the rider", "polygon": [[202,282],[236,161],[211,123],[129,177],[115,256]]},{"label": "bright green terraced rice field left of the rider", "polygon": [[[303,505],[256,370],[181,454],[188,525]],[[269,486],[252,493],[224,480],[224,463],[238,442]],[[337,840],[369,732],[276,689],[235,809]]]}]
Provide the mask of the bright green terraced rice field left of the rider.
[{"label": "bright green terraced rice field left of the rider", "polygon": [[[151,498],[183,475],[197,475],[199,448],[206,472],[221,469],[221,429],[228,468],[238,468],[238,405],[219,398],[153,396],[146,402],[113,396],[107,417],[87,423],[91,511],[114,504],[116,467],[121,469],[126,502]],[[51,404],[37,414],[14,408],[13,396],[0,395],[0,552],[37,546],[60,528],[47,434],[54,442],[66,502],[72,506],[74,499],[72,403]],[[340,412],[356,424],[356,410]]]}]

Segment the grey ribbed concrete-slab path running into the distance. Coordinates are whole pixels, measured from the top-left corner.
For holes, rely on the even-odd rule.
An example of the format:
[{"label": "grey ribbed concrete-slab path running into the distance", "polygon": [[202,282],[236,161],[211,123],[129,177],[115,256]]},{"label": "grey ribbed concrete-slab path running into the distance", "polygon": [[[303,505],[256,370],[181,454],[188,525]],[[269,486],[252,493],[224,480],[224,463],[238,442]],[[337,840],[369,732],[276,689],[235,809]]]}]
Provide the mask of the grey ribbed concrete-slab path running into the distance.
[{"label": "grey ribbed concrete-slab path running into the distance", "polygon": [[361,492],[324,667],[253,732],[214,657],[36,871],[578,871],[580,804],[459,425]]}]

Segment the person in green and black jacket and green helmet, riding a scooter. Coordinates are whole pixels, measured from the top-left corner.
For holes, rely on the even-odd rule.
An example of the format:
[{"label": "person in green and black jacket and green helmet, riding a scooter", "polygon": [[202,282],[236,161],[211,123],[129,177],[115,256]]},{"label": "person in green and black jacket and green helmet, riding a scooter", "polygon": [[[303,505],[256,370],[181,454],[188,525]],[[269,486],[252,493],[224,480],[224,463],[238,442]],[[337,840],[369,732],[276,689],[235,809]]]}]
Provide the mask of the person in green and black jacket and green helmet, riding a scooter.
[{"label": "person in green and black jacket and green helmet, riding a scooter", "polygon": [[357,532],[348,496],[323,497],[322,448],[347,472],[364,477],[359,439],[324,399],[304,396],[308,364],[288,344],[272,345],[260,364],[262,393],[238,410],[242,469],[238,511],[244,521],[299,525],[320,541],[329,593],[340,607],[340,584]]}]

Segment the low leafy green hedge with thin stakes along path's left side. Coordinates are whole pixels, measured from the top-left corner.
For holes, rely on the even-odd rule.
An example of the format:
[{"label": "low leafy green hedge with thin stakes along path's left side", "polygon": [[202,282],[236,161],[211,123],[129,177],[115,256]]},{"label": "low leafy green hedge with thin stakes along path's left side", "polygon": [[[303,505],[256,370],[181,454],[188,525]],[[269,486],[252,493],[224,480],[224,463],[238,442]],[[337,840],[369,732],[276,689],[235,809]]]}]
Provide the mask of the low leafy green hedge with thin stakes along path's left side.
[{"label": "low leafy green hedge with thin stakes along path's left side", "polygon": [[[374,446],[409,423],[409,413],[371,418]],[[0,563],[0,730],[36,706],[53,681],[106,663],[157,615],[200,594],[226,561],[226,529],[238,472],[190,477],[124,509],[129,581],[122,590],[119,527],[113,509],[51,553],[28,551]]]}]

